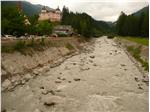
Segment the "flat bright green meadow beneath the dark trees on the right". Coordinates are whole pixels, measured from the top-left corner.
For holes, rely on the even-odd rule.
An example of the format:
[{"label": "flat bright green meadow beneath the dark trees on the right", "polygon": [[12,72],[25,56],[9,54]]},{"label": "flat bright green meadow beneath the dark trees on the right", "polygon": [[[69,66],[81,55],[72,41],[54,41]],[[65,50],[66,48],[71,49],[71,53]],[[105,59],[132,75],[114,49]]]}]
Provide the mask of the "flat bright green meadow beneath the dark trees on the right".
[{"label": "flat bright green meadow beneath the dark trees on the right", "polygon": [[143,37],[121,37],[121,38],[127,39],[127,40],[132,41],[132,42],[136,42],[136,43],[139,43],[142,45],[146,45],[146,46],[149,45],[149,39],[148,38],[143,38]]}]

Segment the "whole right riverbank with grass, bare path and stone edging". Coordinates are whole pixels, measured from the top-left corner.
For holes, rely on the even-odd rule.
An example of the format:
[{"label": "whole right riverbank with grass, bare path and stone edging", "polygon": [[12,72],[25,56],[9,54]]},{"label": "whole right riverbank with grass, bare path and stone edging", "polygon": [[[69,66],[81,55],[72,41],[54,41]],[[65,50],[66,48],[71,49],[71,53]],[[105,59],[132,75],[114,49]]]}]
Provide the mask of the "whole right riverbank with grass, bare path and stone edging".
[{"label": "whole right riverbank with grass, bare path and stone edging", "polygon": [[[134,63],[136,63],[136,65],[143,72],[149,70],[148,39],[140,37],[117,37],[115,38],[115,41],[118,43],[118,45],[122,46],[122,48],[124,48],[129,55],[136,59]],[[134,59],[132,58],[132,60]]]}]

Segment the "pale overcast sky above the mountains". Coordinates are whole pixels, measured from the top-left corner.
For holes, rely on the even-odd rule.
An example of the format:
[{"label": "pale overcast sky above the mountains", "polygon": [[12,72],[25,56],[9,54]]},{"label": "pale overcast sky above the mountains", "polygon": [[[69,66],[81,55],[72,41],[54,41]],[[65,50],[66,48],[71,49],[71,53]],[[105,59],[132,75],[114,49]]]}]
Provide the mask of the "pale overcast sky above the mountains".
[{"label": "pale overcast sky above the mountains", "polygon": [[[60,9],[65,5],[73,12],[86,12],[96,20],[116,21],[120,12],[131,14],[147,6],[148,0],[26,0],[33,4]],[[91,2],[92,1],[92,2]]]}]

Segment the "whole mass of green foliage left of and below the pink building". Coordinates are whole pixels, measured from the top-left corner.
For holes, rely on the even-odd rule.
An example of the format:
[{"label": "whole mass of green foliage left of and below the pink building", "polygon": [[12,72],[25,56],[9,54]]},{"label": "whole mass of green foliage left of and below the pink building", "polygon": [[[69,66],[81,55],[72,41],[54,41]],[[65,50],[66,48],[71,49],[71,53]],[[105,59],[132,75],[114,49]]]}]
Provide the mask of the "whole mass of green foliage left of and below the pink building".
[{"label": "whole mass of green foliage left of and below the pink building", "polygon": [[23,12],[19,11],[16,2],[12,3],[12,5],[7,5],[7,2],[2,4],[1,23],[3,35],[22,36],[26,33],[30,35],[50,35],[52,33],[53,24],[49,21],[38,22],[38,15],[30,16],[30,25],[25,25]]}]

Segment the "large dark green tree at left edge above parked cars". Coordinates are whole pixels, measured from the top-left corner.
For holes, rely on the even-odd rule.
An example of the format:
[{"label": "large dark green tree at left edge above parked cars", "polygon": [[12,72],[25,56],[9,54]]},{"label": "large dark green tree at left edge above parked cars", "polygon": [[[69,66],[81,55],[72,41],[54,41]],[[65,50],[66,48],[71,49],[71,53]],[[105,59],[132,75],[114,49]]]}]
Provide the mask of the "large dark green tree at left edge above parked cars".
[{"label": "large dark green tree at left edge above parked cars", "polygon": [[2,34],[15,36],[24,35],[26,32],[25,18],[15,6],[1,7]]}]

